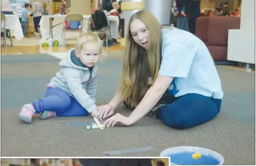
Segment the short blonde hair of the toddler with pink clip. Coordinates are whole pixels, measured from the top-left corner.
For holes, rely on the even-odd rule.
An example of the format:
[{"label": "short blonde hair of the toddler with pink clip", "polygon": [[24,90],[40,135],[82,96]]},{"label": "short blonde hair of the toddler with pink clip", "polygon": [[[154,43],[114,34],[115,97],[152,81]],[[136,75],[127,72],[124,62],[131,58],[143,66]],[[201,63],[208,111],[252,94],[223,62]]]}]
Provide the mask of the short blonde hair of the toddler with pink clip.
[{"label": "short blonde hair of the toddler with pink clip", "polygon": [[101,39],[99,39],[97,34],[94,34],[93,32],[85,32],[84,34],[80,35],[77,38],[76,47],[75,49],[79,52],[81,52],[83,44],[87,43],[94,43],[95,45],[98,45],[99,47],[99,59],[103,60],[104,56],[106,54],[103,51],[103,43],[101,42]]}]

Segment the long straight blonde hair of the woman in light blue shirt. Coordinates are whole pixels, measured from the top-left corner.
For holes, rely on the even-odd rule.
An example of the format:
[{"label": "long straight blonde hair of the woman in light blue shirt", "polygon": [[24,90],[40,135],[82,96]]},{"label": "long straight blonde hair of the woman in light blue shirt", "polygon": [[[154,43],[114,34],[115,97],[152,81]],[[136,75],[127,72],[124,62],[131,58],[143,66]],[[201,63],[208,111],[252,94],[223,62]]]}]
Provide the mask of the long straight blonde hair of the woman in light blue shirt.
[{"label": "long straight blonde hair of the woman in light blue shirt", "polygon": [[[131,36],[130,26],[135,19],[143,21],[149,30],[147,50],[134,42]],[[161,59],[161,26],[150,12],[140,10],[131,16],[127,29],[119,92],[130,107],[134,108],[149,88],[150,74],[152,85],[157,79]]]}]

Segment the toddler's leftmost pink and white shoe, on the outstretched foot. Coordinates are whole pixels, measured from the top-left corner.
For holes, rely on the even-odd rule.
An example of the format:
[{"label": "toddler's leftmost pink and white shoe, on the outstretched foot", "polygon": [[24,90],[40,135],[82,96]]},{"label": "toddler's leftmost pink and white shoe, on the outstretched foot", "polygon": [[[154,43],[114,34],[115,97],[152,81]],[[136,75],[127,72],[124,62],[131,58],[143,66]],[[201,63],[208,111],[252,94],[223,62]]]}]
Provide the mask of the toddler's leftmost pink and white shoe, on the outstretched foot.
[{"label": "toddler's leftmost pink and white shoe, on the outstretched foot", "polygon": [[25,104],[20,111],[20,119],[22,121],[25,121],[25,123],[31,124],[32,116],[36,113],[36,110],[34,109],[32,104]]}]

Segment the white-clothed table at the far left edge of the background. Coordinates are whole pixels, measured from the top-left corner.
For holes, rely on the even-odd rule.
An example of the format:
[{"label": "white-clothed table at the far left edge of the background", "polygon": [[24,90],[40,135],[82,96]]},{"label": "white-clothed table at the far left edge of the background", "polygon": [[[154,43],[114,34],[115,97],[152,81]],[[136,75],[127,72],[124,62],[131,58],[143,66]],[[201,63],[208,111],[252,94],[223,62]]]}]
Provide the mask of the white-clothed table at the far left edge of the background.
[{"label": "white-clothed table at the far left edge of the background", "polygon": [[[1,27],[4,27],[3,21],[1,21]],[[14,30],[14,37],[17,40],[24,37],[18,15],[6,15],[6,29]]]}]

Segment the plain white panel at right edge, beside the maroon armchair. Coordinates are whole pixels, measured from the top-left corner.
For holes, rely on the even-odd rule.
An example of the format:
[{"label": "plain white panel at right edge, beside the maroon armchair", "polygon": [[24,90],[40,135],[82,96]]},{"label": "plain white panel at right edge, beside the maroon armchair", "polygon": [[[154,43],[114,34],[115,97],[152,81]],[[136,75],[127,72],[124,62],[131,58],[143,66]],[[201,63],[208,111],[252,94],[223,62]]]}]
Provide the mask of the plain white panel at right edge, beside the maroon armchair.
[{"label": "plain white panel at right edge, beside the maroon armchair", "polygon": [[255,0],[242,0],[240,29],[228,30],[227,59],[255,64]]}]

